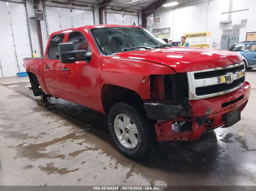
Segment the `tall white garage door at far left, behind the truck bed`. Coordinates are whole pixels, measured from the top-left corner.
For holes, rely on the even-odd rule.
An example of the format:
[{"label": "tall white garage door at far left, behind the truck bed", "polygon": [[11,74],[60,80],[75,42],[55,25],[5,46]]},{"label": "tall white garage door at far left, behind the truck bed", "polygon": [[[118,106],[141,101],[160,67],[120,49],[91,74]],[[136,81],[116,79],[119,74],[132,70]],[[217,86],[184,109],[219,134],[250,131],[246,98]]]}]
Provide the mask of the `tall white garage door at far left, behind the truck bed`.
[{"label": "tall white garage door at far left, behind the truck bed", "polygon": [[0,78],[16,76],[18,65],[25,72],[23,58],[32,53],[24,4],[0,1],[0,29]]}]

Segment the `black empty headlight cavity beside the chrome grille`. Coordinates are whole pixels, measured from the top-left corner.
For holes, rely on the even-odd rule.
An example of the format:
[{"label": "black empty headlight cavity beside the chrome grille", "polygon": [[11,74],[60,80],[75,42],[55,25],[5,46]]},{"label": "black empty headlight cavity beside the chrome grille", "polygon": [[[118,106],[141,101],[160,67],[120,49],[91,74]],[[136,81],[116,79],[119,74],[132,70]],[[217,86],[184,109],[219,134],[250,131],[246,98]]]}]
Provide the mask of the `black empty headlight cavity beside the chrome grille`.
[{"label": "black empty headlight cavity beside the chrome grille", "polygon": [[164,75],[165,100],[188,98],[188,78],[186,73]]}]

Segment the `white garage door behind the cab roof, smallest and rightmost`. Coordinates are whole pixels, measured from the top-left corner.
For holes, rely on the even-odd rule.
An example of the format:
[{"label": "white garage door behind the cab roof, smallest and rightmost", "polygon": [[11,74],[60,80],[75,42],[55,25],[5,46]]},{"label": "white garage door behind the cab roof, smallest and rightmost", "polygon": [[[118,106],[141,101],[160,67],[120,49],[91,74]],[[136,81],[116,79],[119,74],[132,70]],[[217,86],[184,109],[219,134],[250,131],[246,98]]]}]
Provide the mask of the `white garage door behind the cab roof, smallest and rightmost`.
[{"label": "white garage door behind the cab roof, smallest and rightmost", "polygon": [[115,13],[106,13],[107,24],[125,24],[133,25],[135,22],[138,25],[138,16],[137,15],[125,15]]}]

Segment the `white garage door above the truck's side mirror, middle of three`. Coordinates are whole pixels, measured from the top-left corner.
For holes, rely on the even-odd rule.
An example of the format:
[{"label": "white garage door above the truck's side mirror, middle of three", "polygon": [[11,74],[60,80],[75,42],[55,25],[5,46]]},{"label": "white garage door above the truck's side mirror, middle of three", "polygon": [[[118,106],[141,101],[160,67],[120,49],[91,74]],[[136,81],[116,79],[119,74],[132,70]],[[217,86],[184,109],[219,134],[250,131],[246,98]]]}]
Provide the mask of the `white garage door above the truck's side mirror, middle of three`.
[{"label": "white garage door above the truck's side mirror, middle of three", "polygon": [[45,6],[46,23],[49,34],[82,25],[94,24],[93,12],[80,9],[57,8]]}]

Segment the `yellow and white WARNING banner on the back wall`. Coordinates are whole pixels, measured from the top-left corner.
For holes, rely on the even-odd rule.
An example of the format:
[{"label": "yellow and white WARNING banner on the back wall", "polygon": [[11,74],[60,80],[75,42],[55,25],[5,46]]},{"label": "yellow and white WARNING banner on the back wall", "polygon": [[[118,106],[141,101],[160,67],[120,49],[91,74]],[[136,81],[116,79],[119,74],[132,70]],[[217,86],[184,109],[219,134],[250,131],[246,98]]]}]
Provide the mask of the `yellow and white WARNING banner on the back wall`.
[{"label": "yellow and white WARNING banner on the back wall", "polygon": [[198,32],[183,34],[189,47],[210,47],[211,32]]}]

